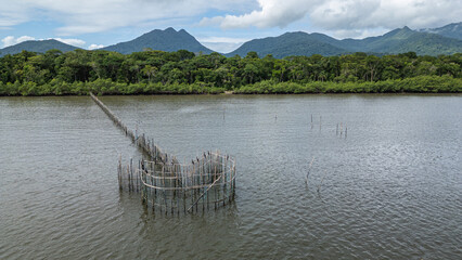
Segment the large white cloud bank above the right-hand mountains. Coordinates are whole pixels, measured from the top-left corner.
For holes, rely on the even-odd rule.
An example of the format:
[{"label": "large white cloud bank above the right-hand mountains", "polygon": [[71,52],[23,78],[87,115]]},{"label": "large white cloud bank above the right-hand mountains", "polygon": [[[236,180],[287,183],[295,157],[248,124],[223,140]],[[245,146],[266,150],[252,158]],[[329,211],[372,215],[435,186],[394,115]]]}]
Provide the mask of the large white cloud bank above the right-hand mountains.
[{"label": "large white cloud bank above the right-hand mountains", "polygon": [[258,0],[259,9],[243,15],[203,18],[201,25],[221,28],[284,27],[308,17],[316,28],[343,36],[362,30],[437,27],[460,22],[460,0]]}]

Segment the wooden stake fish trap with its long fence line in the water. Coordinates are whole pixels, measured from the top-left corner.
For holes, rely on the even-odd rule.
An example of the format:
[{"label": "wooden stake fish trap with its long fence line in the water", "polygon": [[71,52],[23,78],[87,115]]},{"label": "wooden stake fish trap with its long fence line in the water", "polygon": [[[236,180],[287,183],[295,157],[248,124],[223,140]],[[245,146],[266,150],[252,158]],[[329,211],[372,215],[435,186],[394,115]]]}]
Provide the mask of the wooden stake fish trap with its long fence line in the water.
[{"label": "wooden stake fish trap with its long fence line in the water", "polygon": [[230,204],[235,194],[235,159],[220,152],[205,152],[191,164],[179,164],[144,134],[129,130],[97,96],[91,99],[151,159],[133,160],[123,166],[119,157],[117,177],[120,191],[141,194],[144,206],[153,212],[191,213],[217,209]]}]

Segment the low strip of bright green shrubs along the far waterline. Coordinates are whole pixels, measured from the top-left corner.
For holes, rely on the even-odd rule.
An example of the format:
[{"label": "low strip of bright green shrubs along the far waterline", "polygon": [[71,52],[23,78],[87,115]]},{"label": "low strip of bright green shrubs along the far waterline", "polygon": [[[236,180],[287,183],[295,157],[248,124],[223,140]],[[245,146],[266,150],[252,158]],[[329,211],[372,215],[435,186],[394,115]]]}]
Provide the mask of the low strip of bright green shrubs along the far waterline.
[{"label": "low strip of bright green shrubs along the far waterline", "polygon": [[275,82],[264,80],[236,89],[224,89],[210,83],[119,83],[111,79],[67,83],[53,79],[50,83],[0,82],[0,95],[134,95],[134,94],[307,94],[307,93],[462,93],[462,79],[450,76],[419,76],[406,79],[362,82],[312,81]]}]

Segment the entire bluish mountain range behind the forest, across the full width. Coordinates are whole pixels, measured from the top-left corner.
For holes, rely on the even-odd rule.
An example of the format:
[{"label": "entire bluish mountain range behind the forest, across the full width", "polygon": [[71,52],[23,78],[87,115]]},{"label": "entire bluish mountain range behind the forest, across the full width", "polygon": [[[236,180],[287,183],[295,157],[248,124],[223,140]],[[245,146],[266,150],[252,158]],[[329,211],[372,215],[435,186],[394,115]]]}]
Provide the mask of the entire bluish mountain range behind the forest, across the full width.
[{"label": "entire bluish mountain range behind the forest, across the full width", "polygon": [[[63,52],[78,49],[57,40],[25,41],[12,47],[0,49],[0,56],[18,53],[22,50],[43,53],[50,49]],[[115,51],[123,54],[144,50],[178,51],[188,50],[194,53],[208,54],[213,50],[201,44],[184,29],[155,29],[131,41],[105,47],[102,50]],[[227,56],[245,56],[255,51],[259,56],[271,54],[274,57],[292,55],[321,54],[324,56],[339,55],[354,52],[373,54],[396,54],[415,52],[419,55],[439,55],[462,53],[462,23],[449,24],[440,28],[412,30],[408,27],[392,30],[383,36],[364,39],[337,40],[323,34],[307,34],[303,31],[286,32],[278,37],[267,37],[245,42]]]}]

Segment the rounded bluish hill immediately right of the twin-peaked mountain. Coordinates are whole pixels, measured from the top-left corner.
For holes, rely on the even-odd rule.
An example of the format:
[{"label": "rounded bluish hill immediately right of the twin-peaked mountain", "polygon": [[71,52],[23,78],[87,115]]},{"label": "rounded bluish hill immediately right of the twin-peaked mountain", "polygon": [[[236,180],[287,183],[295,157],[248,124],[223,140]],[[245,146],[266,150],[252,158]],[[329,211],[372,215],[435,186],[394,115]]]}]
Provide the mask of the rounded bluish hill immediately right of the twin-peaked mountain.
[{"label": "rounded bluish hill immediately right of the twin-peaked mountain", "polygon": [[234,56],[236,54],[245,56],[251,51],[257,52],[260,57],[271,54],[278,58],[292,55],[310,56],[312,54],[332,56],[348,52],[345,49],[330,44],[326,40],[319,39],[319,34],[309,35],[301,31],[286,32],[279,37],[247,41],[235,51],[228,53],[227,56]]}]

